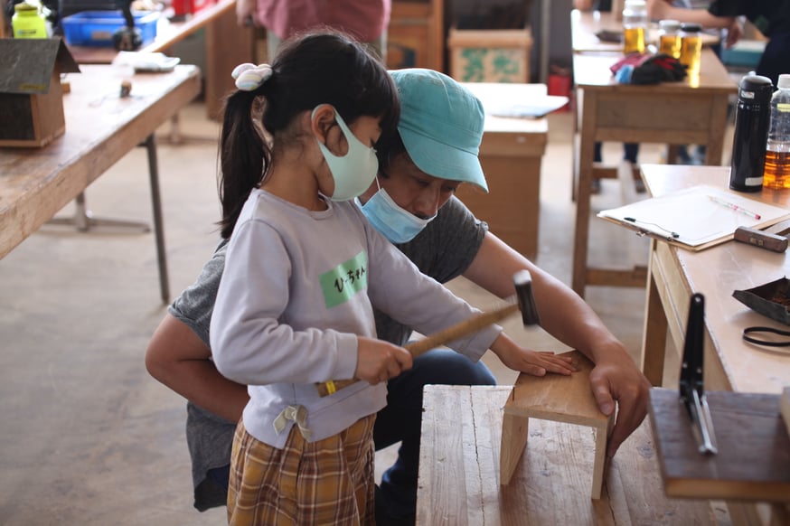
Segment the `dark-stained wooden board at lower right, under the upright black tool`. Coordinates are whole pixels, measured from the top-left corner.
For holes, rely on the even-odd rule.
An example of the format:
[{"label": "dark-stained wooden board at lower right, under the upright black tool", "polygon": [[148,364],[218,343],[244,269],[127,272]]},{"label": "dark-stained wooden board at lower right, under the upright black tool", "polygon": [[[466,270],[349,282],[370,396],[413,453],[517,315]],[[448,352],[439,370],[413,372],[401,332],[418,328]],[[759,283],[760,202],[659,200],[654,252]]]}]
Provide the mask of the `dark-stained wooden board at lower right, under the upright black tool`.
[{"label": "dark-stained wooden board at lower right, under the upright black tool", "polygon": [[650,391],[664,488],[672,497],[790,502],[790,437],[779,395],[708,391],[717,455],[697,451],[677,390]]}]

